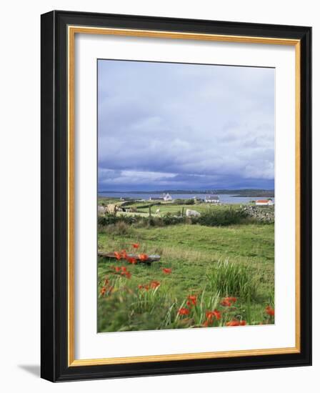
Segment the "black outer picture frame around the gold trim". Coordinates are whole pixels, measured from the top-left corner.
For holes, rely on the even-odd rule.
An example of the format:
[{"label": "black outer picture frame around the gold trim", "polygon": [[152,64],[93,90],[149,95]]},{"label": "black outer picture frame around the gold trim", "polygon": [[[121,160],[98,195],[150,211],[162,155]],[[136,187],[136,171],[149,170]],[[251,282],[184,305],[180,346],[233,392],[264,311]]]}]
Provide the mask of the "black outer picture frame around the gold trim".
[{"label": "black outer picture frame around the gold trim", "polygon": [[[301,43],[301,350],[166,362],[68,366],[69,25],[274,37]],[[311,27],[51,11],[41,15],[41,377],[52,382],[311,365]]]}]

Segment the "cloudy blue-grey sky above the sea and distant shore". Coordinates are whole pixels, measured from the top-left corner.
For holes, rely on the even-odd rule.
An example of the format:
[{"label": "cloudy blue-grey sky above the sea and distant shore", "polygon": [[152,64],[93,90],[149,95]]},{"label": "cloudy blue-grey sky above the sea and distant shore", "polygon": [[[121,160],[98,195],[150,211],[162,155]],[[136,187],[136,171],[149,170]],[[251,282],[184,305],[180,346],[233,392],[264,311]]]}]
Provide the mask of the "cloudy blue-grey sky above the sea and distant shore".
[{"label": "cloudy blue-grey sky above the sea and distant shore", "polygon": [[274,189],[274,69],[98,61],[98,189]]}]

